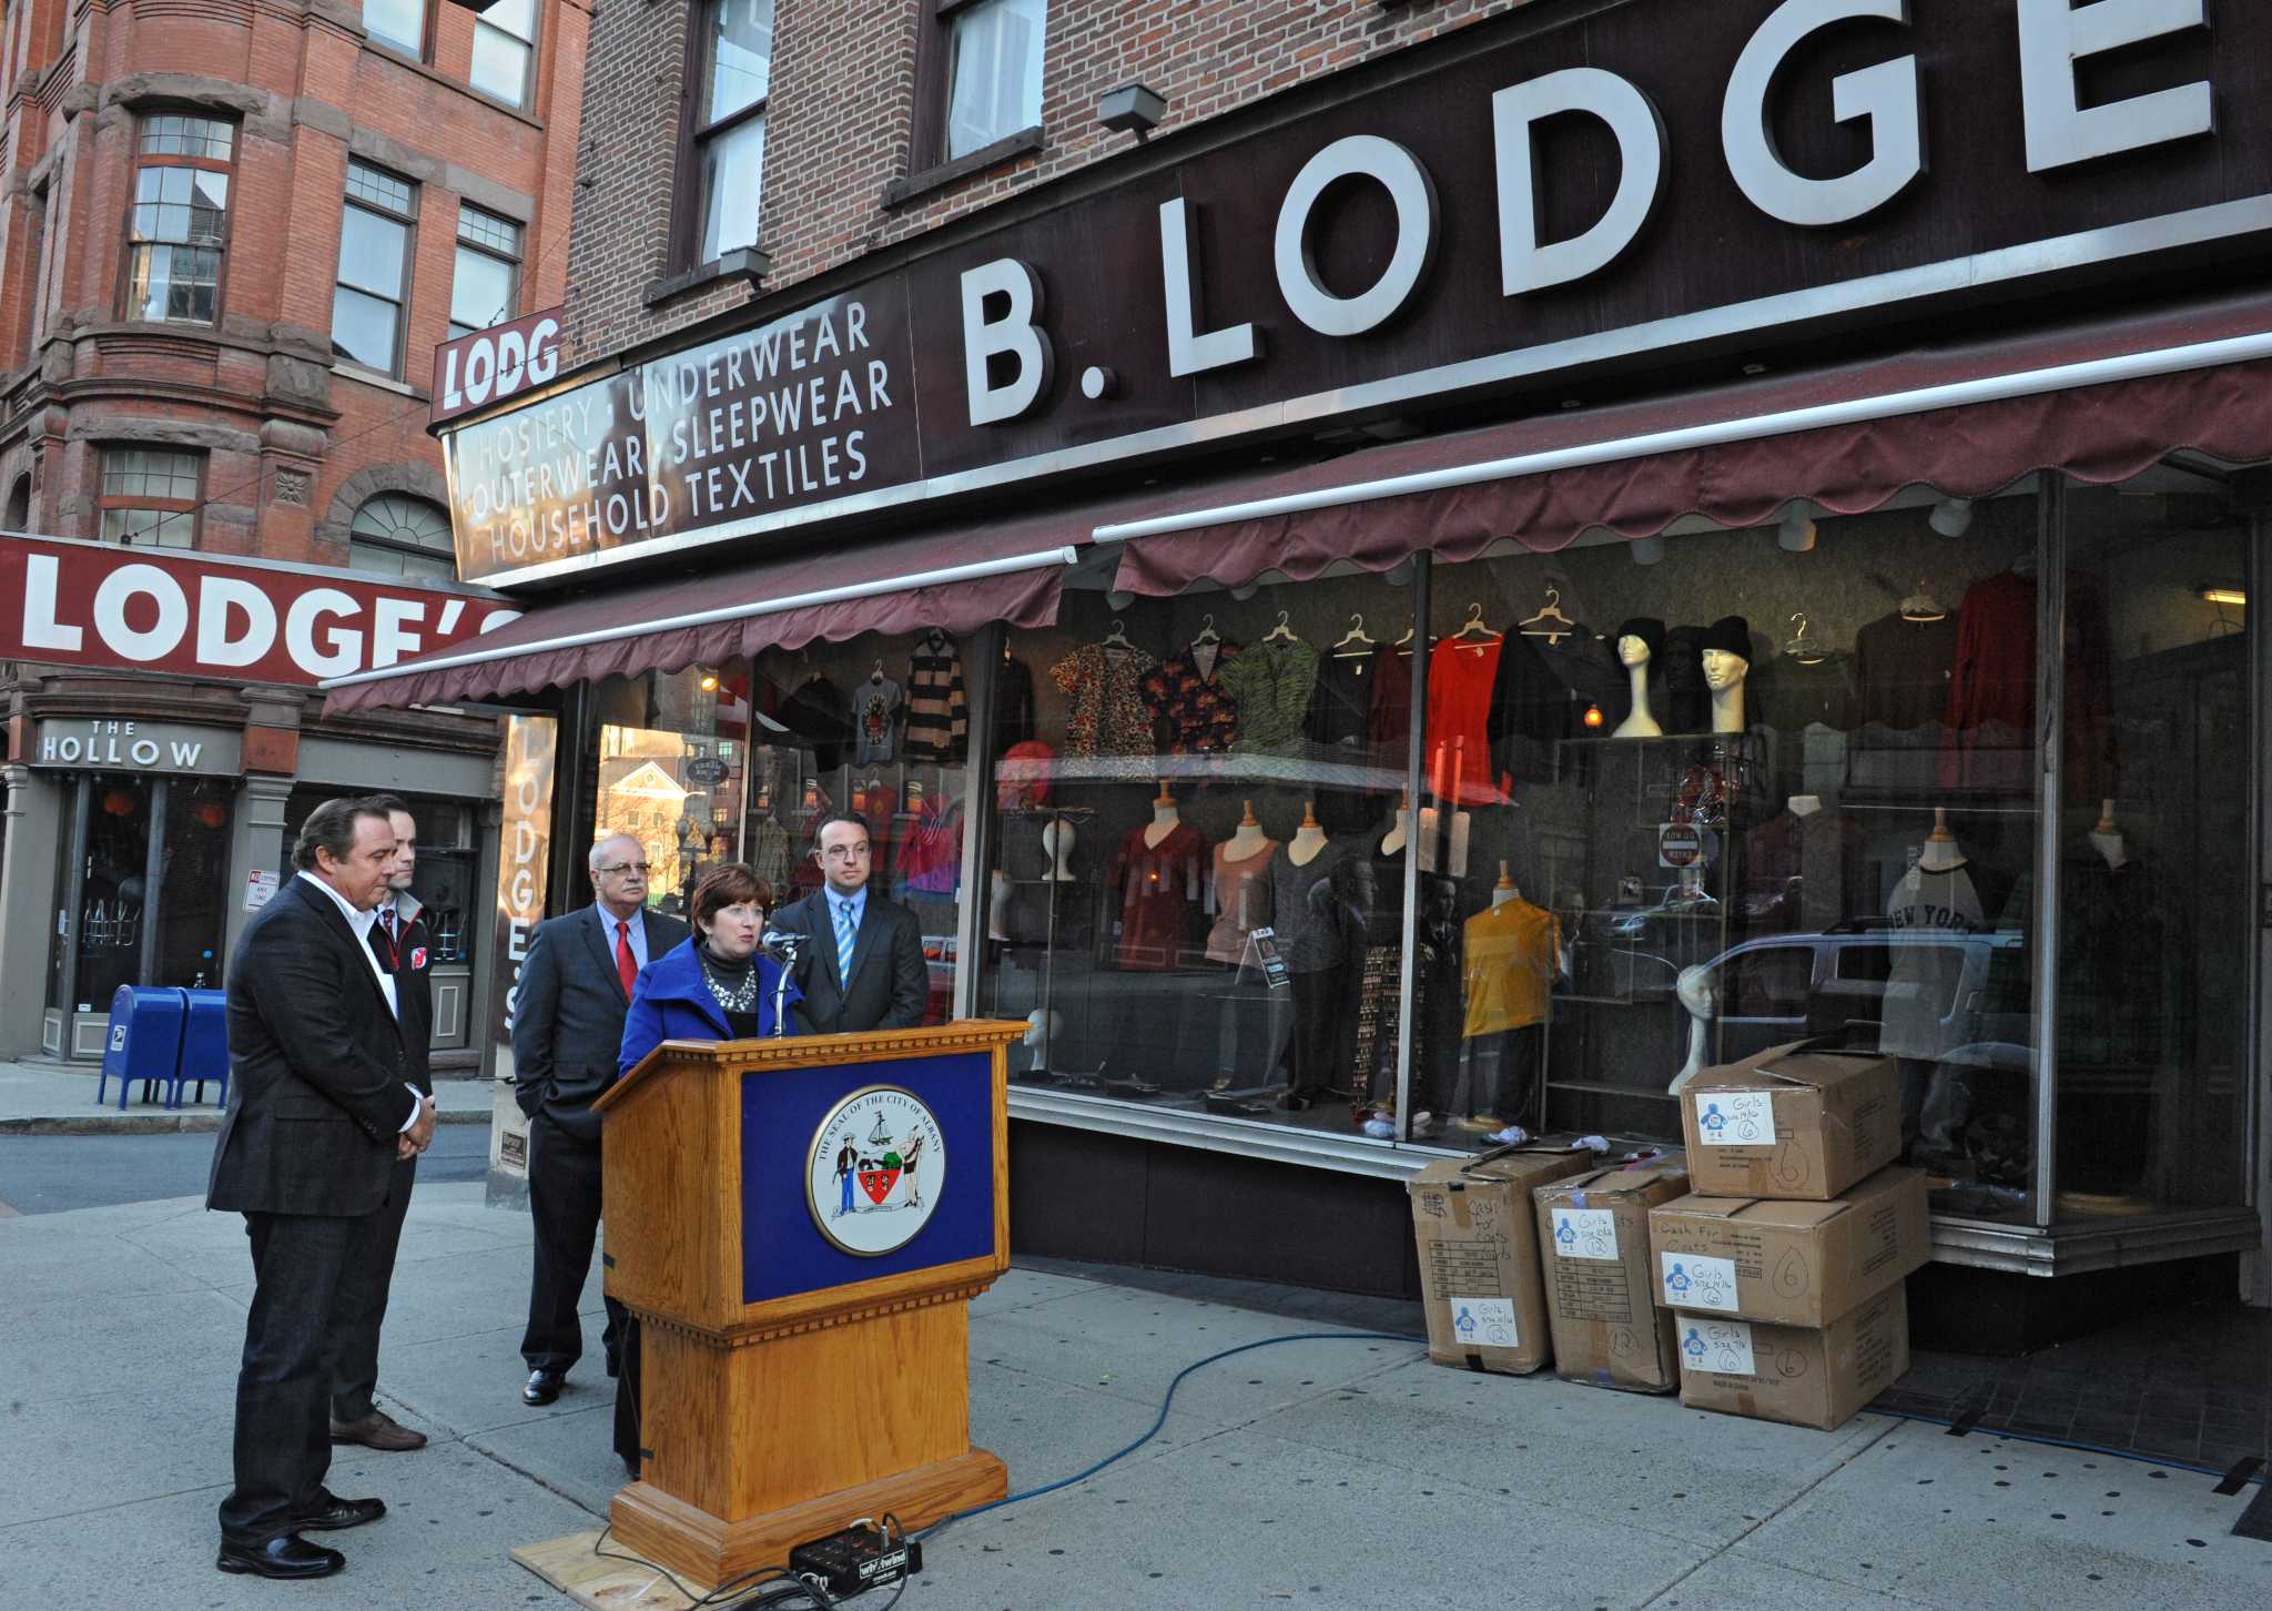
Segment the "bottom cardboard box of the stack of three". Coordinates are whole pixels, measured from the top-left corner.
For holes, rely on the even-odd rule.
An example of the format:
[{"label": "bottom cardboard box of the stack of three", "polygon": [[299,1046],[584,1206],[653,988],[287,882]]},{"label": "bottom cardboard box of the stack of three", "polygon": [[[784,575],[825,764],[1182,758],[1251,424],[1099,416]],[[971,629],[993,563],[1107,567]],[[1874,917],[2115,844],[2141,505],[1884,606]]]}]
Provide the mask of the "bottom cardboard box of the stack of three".
[{"label": "bottom cardboard box of the stack of three", "polygon": [[1820,1329],[1693,1313],[1677,1316],[1677,1325],[1681,1404],[1722,1416],[1834,1431],[1908,1370],[1902,1286]]}]

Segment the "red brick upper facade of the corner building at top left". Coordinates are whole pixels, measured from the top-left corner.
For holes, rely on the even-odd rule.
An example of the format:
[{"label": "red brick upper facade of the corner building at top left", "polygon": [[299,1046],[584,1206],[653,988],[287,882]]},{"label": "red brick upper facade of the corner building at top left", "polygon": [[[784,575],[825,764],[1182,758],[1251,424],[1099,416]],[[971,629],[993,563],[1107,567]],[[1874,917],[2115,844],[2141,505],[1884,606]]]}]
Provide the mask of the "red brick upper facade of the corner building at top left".
[{"label": "red brick upper facade of the corner building at top left", "polygon": [[[0,525],[98,536],[105,445],[202,454],[204,550],[343,564],[373,493],[443,502],[425,414],[459,204],[523,225],[516,311],[568,282],[591,0],[536,20],[513,109],[468,86],[475,20],[450,0],[416,61],[359,0],[5,0]],[[209,325],[127,316],[136,132],[164,111],[236,132]],[[334,366],[350,155],[418,186],[400,382]]]}]

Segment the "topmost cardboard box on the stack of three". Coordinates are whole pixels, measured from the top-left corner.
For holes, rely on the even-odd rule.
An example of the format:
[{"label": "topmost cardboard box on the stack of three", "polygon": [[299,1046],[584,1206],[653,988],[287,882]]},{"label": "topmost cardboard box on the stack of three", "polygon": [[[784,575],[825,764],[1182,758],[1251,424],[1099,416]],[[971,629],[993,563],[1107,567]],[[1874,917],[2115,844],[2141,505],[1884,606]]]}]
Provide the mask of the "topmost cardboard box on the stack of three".
[{"label": "topmost cardboard box on the stack of three", "polygon": [[1829,1202],[1902,1157],[1902,1075],[1877,1052],[1777,1045],[1690,1079],[1681,1132],[1699,1193]]}]

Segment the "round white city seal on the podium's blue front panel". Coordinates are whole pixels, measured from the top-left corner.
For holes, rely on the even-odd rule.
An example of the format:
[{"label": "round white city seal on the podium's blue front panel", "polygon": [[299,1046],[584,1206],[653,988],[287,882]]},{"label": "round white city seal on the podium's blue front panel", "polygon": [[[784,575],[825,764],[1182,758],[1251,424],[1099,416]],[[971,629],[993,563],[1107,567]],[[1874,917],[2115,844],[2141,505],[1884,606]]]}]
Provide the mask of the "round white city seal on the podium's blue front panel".
[{"label": "round white city seal on the podium's blue front panel", "polygon": [[866,1086],[813,1132],[804,1202],[836,1247],[875,1259],[916,1241],[947,1186],[938,1116],[902,1086]]}]

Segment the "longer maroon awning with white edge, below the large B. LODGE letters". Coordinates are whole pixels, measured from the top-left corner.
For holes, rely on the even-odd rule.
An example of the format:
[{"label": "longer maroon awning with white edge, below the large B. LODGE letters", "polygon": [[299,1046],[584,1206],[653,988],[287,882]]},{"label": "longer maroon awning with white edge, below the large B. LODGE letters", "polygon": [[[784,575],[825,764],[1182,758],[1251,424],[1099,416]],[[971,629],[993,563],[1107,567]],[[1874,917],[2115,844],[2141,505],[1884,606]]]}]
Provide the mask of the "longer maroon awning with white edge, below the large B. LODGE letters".
[{"label": "longer maroon awning with white edge, below the large B. LODGE letters", "polygon": [[1554,552],[1597,525],[1752,527],[1795,498],[1863,514],[1915,484],[2122,482],[2179,448],[2272,459],[2272,293],[1365,448],[1095,536],[1127,545],[1116,586],[1170,595],[1502,539]]}]

